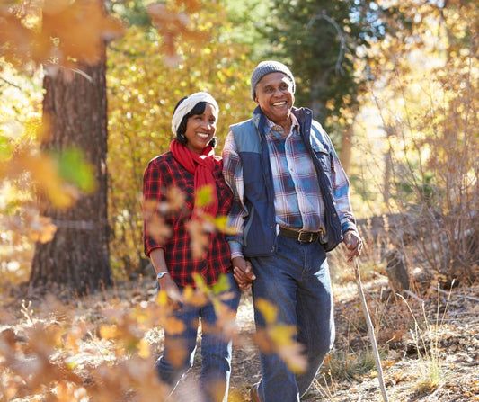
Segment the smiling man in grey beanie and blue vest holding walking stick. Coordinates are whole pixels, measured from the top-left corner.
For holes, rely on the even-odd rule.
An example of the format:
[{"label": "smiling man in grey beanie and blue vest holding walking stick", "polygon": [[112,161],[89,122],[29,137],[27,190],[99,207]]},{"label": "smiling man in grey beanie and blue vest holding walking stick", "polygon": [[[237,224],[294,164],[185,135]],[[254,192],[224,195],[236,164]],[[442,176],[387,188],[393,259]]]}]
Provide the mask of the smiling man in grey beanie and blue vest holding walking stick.
[{"label": "smiling man in grey beanie and blue vest holding walking stick", "polygon": [[257,329],[265,326],[256,308],[263,299],[278,308],[280,323],[297,328],[307,361],[306,371],[295,374],[277,354],[260,351],[254,402],[299,401],[305,394],[334,340],[326,252],[343,241],[351,261],[362,247],[348,178],[312,112],[293,107],[295,85],[282,63],[260,63],[251,77],[253,119],[231,126],[223,151],[235,194],[229,215],[238,233],[229,241],[235,279],[242,289],[254,280]]}]

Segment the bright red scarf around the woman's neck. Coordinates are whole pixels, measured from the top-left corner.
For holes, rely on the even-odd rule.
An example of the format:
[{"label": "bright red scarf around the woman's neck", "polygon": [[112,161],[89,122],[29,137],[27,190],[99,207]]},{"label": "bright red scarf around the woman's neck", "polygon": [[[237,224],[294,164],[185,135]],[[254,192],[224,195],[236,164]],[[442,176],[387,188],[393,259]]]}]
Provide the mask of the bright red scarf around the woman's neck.
[{"label": "bright red scarf around the woman's neck", "polygon": [[[204,186],[209,185],[212,189],[211,193],[213,199],[201,210],[207,212],[209,215],[217,216],[217,183],[213,176],[215,170],[215,150],[213,147],[205,147],[201,154],[196,154],[190,149],[180,144],[176,139],[173,139],[170,144],[170,151],[172,151],[174,158],[191,174],[195,175],[194,187],[195,194]],[[196,207],[195,207],[196,210]],[[198,213],[198,211],[196,211]],[[193,216],[196,215],[193,211]]]}]

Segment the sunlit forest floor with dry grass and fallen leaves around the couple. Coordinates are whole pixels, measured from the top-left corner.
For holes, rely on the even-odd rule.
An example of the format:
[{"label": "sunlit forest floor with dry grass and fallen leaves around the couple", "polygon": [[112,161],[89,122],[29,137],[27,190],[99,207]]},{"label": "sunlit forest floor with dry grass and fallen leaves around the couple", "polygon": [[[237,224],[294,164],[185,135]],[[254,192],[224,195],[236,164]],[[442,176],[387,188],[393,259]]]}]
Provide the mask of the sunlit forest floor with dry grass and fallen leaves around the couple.
[{"label": "sunlit forest floor with dry grass and fallen leaves around the couple", "polygon": [[[384,380],[391,402],[479,401],[479,284],[460,284],[450,291],[423,289],[416,293],[419,296],[403,299],[391,294],[386,277],[373,274],[364,281],[364,288],[368,297],[368,308],[376,326]],[[370,353],[368,330],[356,284],[354,281],[336,282],[333,291],[336,342],[333,352],[327,357],[322,371],[302,401],[380,401],[382,398],[377,369]],[[36,299],[30,294],[33,302],[29,306],[26,301],[21,302],[23,297],[19,289],[11,290],[9,296],[4,293],[3,307],[0,308],[0,335],[11,328],[16,335],[17,349],[19,344],[26,342],[25,328],[31,326],[35,319],[40,321],[47,317],[47,312],[42,312],[44,306],[36,308],[40,303],[39,298]],[[114,290],[104,290],[101,294],[78,298],[65,305],[66,309],[62,314],[67,314],[65,311],[74,308],[76,322],[95,325],[95,322],[104,323],[105,317],[102,316],[101,310],[109,304],[128,310],[138,303],[153,301],[155,289],[152,282],[141,281],[137,285],[126,283],[117,285]],[[249,401],[249,389],[260,379],[257,347],[252,341],[254,324],[250,291],[244,292],[242,296],[237,326],[236,339],[243,342],[234,345],[229,400]],[[154,353],[161,352],[161,333],[162,331],[153,331],[148,336]],[[88,334],[89,336],[79,337],[77,343],[83,342],[84,339],[85,343],[92,344],[93,335],[90,331]],[[6,338],[4,336],[4,339]],[[97,343],[100,344],[100,341]],[[2,347],[0,368],[4,344]],[[75,348],[77,353],[84,353],[86,350],[81,344],[76,344]],[[86,353],[84,358],[91,367],[95,365],[93,354]],[[102,360],[105,360],[106,354],[102,352]],[[113,356],[112,361],[114,359]],[[79,361],[80,357],[77,357],[76,362]],[[81,366],[82,364],[78,364],[77,367]],[[40,394],[29,397],[24,390],[22,398],[11,395],[10,398],[3,399],[2,392],[4,396],[7,395],[5,384],[11,384],[13,387],[14,382],[6,377],[2,378],[4,373],[0,374],[0,382],[3,384],[0,387],[1,400],[53,400],[42,398]],[[196,373],[197,370],[193,369],[191,376]],[[82,372],[79,374],[84,375]],[[86,388],[91,380],[88,374],[84,375]],[[18,379],[15,381],[17,383]],[[22,389],[18,385],[17,387]],[[127,397],[122,400],[135,398]],[[185,400],[191,402],[194,398]]]}]

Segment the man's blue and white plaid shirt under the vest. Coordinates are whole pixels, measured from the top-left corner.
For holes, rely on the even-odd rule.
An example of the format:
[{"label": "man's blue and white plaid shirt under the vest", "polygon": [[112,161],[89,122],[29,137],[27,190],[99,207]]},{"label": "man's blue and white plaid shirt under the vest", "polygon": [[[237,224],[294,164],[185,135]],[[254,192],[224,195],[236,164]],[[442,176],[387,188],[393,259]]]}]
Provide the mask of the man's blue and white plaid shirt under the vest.
[{"label": "man's blue and white plaid shirt under the vest", "polygon": [[[291,113],[292,126],[288,134],[266,119],[265,136],[270,153],[275,192],[274,207],[277,227],[317,232],[325,229],[324,202],[320,196],[315,166],[299,134],[299,123]],[[242,256],[240,237],[243,233],[244,207],[243,166],[237,153],[235,138],[230,131],[223,151],[223,174],[235,194],[236,208],[230,211],[228,225],[238,233],[238,242],[229,242],[231,257]],[[333,152],[333,192],[336,210],[343,222],[352,217],[350,183],[338,156]],[[241,208],[237,208],[237,206]]]}]

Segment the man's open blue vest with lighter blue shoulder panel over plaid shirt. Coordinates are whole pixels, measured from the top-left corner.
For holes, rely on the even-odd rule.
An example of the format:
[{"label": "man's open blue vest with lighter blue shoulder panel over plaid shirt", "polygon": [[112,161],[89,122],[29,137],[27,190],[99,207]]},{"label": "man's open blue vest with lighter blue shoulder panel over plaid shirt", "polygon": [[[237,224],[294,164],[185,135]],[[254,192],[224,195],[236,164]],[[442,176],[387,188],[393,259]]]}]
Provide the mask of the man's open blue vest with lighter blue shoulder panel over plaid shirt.
[{"label": "man's open blue vest with lighter blue shoulder panel over plaid shirt", "polygon": [[[333,156],[332,145],[319,123],[313,121],[309,109],[293,108],[300,126],[301,138],[311,155],[318,176],[319,188],[324,200],[326,251],[331,251],[342,242],[342,226],[333,200]],[[242,160],[244,176],[244,205],[248,216],[244,222],[243,253],[245,257],[266,256],[274,253],[276,217],[274,210],[274,189],[271,174],[270,156],[264,127],[266,117],[257,107],[253,119],[230,127],[235,136],[235,144]],[[319,126],[320,127],[320,126]],[[313,130],[313,136],[311,135]]]}]

